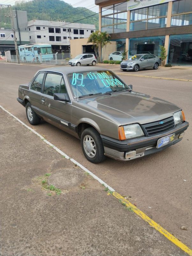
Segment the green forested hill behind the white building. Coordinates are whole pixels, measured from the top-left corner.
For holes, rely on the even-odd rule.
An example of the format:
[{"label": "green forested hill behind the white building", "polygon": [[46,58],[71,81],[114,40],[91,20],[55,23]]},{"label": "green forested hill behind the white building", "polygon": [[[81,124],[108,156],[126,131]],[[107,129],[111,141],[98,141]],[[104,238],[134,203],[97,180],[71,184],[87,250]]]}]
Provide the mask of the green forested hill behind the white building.
[{"label": "green forested hill behind the white building", "polygon": [[[26,11],[28,20],[65,20],[66,22],[94,24],[96,29],[99,27],[99,16],[98,14],[83,19],[87,16],[95,14],[85,7],[73,7],[60,0],[33,0],[30,2],[21,2],[12,6],[12,10],[17,7],[18,11]],[[0,27],[11,28],[10,18],[4,16],[8,13],[8,9],[0,9]],[[6,23],[6,25],[4,24]]]}]

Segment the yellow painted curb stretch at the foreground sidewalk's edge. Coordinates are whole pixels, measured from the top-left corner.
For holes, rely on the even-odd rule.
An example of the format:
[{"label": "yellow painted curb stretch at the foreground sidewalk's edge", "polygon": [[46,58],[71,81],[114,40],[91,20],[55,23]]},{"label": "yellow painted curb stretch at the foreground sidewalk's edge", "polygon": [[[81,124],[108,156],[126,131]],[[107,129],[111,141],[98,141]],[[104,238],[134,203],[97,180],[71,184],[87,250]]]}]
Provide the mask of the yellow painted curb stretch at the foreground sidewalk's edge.
[{"label": "yellow painted curb stretch at the foreground sidewalk's edge", "polygon": [[185,244],[181,243],[176,237],[162,228],[159,224],[157,224],[154,220],[151,220],[144,212],[140,211],[135,205],[131,204],[128,200],[122,197],[117,192],[113,192],[113,196],[117,199],[121,200],[122,203],[125,203],[127,207],[131,207],[133,212],[135,212],[138,216],[140,216],[144,221],[148,222],[151,227],[155,228],[162,235],[164,235],[167,239],[169,239],[172,243],[177,245],[181,250],[188,253],[188,255],[192,256],[192,250],[188,248]]}]

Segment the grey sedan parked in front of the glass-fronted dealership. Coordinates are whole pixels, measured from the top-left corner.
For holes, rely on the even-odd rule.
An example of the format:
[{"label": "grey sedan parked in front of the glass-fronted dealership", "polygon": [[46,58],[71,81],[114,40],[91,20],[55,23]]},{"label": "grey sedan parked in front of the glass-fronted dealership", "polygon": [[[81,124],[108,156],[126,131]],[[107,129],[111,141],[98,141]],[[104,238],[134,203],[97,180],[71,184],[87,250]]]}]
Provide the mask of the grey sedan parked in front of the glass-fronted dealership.
[{"label": "grey sedan parked in front of the glass-fronted dealership", "polygon": [[120,64],[120,69],[137,72],[142,68],[158,69],[160,65],[161,59],[158,56],[153,54],[136,54],[129,58],[129,60],[123,60]]}]

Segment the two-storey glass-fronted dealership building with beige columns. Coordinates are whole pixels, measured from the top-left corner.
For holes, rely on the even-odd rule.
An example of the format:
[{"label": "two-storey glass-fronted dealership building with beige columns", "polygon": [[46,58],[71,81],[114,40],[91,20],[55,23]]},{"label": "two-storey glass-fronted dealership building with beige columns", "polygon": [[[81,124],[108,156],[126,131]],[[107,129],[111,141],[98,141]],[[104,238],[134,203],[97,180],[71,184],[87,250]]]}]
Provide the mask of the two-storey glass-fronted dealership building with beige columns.
[{"label": "two-storey glass-fronted dealership building with beige columns", "polygon": [[129,56],[142,52],[158,56],[159,46],[163,45],[166,63],[192,65],[192,0],[165,0],[164,3],[157,0],[159,4],[145,4],[140,0],[97,2],[100,30],[107,31],[113,42],[117,42],[114,51],[122,51],[124,47]]}]

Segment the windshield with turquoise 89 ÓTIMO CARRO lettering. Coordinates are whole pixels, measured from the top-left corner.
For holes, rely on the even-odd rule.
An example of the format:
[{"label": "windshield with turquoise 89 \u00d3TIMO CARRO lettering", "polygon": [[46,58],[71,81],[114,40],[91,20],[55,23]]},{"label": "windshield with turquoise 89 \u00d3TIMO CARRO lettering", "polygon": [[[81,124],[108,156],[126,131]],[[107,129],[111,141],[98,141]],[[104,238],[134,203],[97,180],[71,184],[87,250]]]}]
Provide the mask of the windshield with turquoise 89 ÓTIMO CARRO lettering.
[{"label": "windshield with turquoise 89 \u00d3TIMO CARRO lettering", "polygon": [[130,90],[119,77],[109,70],[74,72],[68,74],[74,97]]}]

